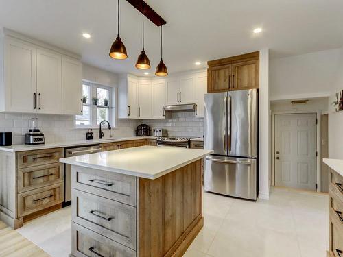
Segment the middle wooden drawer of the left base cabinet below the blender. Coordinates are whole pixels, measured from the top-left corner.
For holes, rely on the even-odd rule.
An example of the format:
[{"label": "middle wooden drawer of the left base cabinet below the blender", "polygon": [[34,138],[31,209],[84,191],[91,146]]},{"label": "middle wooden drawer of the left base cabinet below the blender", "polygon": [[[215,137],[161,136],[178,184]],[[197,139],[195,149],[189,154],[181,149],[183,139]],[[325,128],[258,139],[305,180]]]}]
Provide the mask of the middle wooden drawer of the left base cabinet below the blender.
[{"label": "middle wooden drawer of the left base cabinet below the blender", "polygon": [[18,193],[63,182],[61,163],[18,169]]}]

